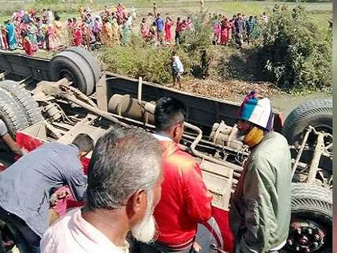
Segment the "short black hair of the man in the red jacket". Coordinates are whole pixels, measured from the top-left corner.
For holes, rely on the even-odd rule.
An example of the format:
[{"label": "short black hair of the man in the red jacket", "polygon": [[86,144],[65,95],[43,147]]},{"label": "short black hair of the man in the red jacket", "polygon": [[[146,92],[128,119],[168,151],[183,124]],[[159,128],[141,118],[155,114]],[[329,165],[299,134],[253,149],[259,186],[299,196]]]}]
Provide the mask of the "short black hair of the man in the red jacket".
[{"label": "short black hair of the man in the red jacket", "polygon": [[186,121],[186,106],[176,98],[161,97],[155,106],[155,128],[157,131],[170,129]]}]

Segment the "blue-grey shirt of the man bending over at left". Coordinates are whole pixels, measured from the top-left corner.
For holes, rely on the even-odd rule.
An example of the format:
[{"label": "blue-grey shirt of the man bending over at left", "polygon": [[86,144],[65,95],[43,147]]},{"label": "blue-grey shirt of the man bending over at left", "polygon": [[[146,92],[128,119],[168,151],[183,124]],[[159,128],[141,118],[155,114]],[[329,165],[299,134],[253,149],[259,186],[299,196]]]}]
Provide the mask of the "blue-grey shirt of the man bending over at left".
[{"label": "blue-grey shirt of the man bending over at left", "polygon": [[50,190],[73,178],[68,181],[70,189],[82,188],[72,192],[75,198],[81,199],[84,194],[78,155],[79,149],[74,144],[53,143],[23,156],[0,174],[0,207],[19,216],[42,236],[48,227]]}]

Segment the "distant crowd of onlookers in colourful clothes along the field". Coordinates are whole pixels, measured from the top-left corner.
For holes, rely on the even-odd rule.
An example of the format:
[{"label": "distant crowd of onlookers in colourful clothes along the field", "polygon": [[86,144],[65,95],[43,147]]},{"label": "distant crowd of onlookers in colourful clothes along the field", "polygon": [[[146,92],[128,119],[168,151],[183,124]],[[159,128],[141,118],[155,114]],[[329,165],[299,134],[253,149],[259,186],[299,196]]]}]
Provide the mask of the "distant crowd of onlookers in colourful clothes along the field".
[{"label": "distant crowd of onlookers in colourful clothes along the field", "polygon": [[[105,7],[99,15],[93,15],[90,8],[79,10],[80,18],[69,18],[61,21],[57,12],[50,9],[37,13],[21,10],[5,21],[0,28],[0,49],[15,50],[23,48],[27,55],[34,55],[39,49],[62,50],[66,46],[93,45],[114,46],[128,44],[131,39],[131,28],[135,27],[137,12],[134,7],[127,10],[122,3],[113,8]],[[210,17],[211,19],[211,17]],[[264,13],[262,21],[268,17]],[[258,19],[238,14],[228,19],[225,15],[215,16],[213,21],[213,44],[226,45],[235,41],[242,46],[244,38],[248,42],[258,37]],[[153,12],[140,22],[139,35],[154,44],[180,44],[184,30],[193,30],[191,17],[162,17],[154,4]],[[173,32],[174,31],[174,32]]]}]

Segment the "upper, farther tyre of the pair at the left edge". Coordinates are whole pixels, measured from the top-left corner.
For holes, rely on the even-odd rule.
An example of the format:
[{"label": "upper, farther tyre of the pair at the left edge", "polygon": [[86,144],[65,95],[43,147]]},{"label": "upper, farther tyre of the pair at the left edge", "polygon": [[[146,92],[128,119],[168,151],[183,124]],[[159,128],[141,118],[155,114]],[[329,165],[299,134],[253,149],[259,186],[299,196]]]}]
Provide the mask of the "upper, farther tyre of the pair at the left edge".
[{"label": "upper, farther tyre of the pair at the left edge", "polygon": [[6,80],[0,82],[0,89],[10,93],[10,96],[21,106],[24,113],[26,113],[30,124],[44,120],[37,102],[32,98],[32,95],[30,95],[26,88],[23,88],[19,83]]}]

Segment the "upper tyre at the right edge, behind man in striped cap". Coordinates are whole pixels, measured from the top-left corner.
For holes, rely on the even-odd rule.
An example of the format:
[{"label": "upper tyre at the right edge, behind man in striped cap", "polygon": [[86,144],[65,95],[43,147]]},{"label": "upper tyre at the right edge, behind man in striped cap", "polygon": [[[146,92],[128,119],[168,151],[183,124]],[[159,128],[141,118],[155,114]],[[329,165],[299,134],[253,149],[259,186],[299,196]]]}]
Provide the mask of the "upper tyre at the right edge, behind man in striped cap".
[{"label": "upper tyre at the right edge, behind man in striped cap", "polygon": [[285,120],[283,135],[294,144],[311,125],[318,131],[332,133],[332,100],[311,100],[293,109]]}]

